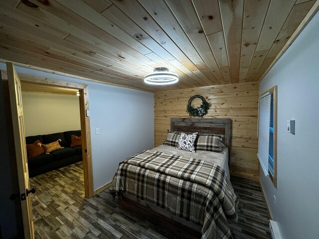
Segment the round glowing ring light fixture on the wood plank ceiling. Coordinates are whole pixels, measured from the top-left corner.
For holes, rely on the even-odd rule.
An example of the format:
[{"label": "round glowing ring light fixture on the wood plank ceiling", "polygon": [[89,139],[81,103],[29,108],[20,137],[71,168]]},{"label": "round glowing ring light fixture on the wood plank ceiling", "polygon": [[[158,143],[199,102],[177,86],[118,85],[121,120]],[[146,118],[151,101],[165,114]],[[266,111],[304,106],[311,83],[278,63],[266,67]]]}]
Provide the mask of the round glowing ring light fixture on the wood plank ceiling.
[{"label": "round glowing ring light fixture on the wood plank ceiling", "polygon": [[151,85],[170,85],[178,81],[178,75],[169,72],[166,67],[155,68],[153,73],[144,76],[144,82]]}]

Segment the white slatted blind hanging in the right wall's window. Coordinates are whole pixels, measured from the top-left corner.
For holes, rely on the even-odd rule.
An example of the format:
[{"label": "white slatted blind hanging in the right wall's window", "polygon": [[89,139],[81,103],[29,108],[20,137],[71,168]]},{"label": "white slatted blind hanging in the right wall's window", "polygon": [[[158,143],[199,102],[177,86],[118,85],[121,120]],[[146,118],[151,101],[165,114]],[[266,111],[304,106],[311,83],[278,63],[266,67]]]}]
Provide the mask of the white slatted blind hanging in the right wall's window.
[{"label": "white slatted blind hanging in the right wall's window", "polygon": [[259,98],[257,156],[265,176],[268,175],[270,104],[271,94]]}]

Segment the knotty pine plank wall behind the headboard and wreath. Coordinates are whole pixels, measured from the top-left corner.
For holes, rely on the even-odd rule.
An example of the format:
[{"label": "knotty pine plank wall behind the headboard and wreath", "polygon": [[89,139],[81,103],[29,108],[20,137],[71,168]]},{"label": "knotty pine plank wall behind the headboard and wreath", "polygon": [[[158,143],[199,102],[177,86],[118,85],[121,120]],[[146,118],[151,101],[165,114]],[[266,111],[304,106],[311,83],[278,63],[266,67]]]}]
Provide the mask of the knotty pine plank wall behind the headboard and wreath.
[{"label": "knotty pine plank wall behind the headboard and wreath", "polygon": [[[258,82],[156,92],[155,145],[165,140],[170,118],[188,117],[188,99],[197,94],[211,103],[204,118],[232,119],[230,155],[235,157],[235,162],[230,163],[230,174],[258,180]],[[199,104],[193,101],[195,107]]]}]

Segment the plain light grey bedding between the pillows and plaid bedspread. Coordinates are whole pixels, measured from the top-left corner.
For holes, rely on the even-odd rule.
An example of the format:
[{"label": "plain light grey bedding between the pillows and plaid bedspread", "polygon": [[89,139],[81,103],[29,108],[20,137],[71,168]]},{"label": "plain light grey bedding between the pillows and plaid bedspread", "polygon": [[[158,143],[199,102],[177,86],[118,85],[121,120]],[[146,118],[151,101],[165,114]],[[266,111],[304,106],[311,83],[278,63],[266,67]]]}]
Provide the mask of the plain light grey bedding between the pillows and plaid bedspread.
[{"label": "plain light grey bedding between the pillows and plaid bedspread", "polygon": [[222,169],[224,169],[225,174],[227,175],[227,178],[230,179],[230,173],[229,173],[229,167],[228,167],[228,155],[229,155],[228,151],[229,150],[227,147],[223,146],[221,153],[204,151],[204,150],[197,150],[195,153],[193,153],[193,152],[188,152],[181,149],[176,149],[175,147],[168,146],[168,145],[160,145],[158,147],[153,148],[152,150],[160,151],[163,153],[192,157],[196,159],[209,161],[211,163],[215,163],[218,166],[220,166]]}]

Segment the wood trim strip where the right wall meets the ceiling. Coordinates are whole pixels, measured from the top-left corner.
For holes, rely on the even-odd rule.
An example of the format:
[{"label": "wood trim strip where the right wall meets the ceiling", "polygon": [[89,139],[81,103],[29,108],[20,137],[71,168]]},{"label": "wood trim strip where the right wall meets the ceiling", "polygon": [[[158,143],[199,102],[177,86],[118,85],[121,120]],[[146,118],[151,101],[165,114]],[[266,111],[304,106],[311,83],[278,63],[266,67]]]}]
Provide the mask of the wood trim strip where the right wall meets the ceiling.
[{"label": "wood trim strip where the right wall meets the ceiling", "polygon": [[307,26],[307,24],[310,22],[310,20],[316,15],[317,11],[319,10],[319,0],[315,2],[313,7],[310,9],[306,17],[302,20],[302,22],[299,24],[297,29],[294,31],[292,36],[288,39],[284,47],[280,50],[278,55],[275,57],[275,59],[272,61],[272,63],[269,65],[267,70],[264,72],[264,74],[259,79],[259,82],[261,82],[264,77],[267,75],[267,73],[271,70],[271,68],[275,65],[275,63],[279,60],[279,58],[287,51],[287,49],[293,44],[293,42],[296,40],[296,38],[299,36],[299,34],[304,30],[304,28]]}]

